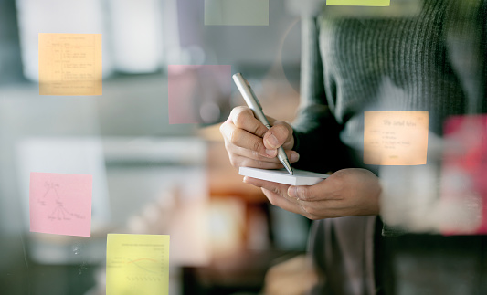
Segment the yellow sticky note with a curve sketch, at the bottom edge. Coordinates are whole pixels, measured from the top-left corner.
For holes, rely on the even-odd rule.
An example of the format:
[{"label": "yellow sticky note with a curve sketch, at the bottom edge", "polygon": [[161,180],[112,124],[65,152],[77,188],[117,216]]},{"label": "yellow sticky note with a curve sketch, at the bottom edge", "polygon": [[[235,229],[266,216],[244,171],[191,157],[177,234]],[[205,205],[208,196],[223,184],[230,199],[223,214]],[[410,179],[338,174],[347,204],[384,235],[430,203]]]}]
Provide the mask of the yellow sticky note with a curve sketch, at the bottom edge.
[{"label": "yellow sticky note with a curve sketch, at the bottom edge", "polygon": [[107,295],[168,294],[169,236],[107,236]]}]

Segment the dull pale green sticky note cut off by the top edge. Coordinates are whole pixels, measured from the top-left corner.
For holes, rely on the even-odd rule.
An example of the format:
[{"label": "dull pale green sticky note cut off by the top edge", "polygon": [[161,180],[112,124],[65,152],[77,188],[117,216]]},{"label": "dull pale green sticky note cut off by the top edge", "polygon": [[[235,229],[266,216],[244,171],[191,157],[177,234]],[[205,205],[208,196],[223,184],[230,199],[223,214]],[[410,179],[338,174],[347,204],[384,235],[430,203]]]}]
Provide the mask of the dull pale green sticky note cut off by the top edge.
[{"label": "dull pale green sticky note cut off by the top edge", "polygon": [[269,0],[205,0],[206,26],[269,26]]}]

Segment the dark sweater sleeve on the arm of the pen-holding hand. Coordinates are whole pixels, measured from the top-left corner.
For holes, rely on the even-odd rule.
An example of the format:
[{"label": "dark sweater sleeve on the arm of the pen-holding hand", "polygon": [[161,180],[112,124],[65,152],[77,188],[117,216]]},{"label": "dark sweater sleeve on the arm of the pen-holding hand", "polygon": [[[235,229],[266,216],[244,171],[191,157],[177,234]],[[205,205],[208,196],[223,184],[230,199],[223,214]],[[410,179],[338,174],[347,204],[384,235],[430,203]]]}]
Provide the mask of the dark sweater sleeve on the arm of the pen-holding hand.
[{"label": "dark sweater sleeve on the arm of the pen-holding hand", "polygon": [[346,166],[339,140],[341,126],[326,101],[323,62],[316,18],[302,19],[301,102],[294,121],[294,149],[300,153],[297,168],[316,172],[335,171]]}]

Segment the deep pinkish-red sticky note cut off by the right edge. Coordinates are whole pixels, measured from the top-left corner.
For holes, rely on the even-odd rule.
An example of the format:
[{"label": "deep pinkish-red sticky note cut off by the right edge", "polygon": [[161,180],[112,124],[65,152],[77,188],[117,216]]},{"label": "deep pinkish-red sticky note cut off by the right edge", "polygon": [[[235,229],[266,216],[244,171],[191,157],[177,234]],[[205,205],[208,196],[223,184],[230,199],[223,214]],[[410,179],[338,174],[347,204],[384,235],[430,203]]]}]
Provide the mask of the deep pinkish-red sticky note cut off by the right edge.
[{"label": "deep pinkish-red sticky note cut off by the right edge", "polygon": [[441,231],[487,234],[487,115],[450,117],[444,131]]}]

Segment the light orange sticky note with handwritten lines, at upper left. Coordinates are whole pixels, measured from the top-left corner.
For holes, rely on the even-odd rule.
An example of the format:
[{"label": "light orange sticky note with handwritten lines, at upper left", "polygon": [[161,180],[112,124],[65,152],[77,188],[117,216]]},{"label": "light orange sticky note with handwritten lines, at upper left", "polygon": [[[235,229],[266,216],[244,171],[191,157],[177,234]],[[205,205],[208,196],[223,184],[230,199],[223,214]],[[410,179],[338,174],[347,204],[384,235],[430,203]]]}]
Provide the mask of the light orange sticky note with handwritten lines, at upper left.
[{"label": "light orange sticky note with handwritten lines, at upper left", "polygon": [[101,95],[101,34],[40,33],[39,94]]}]

